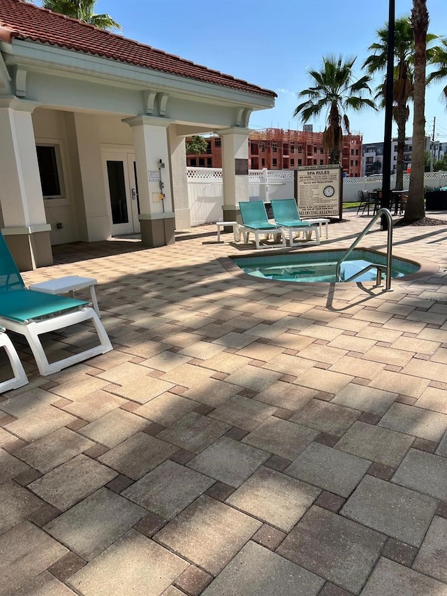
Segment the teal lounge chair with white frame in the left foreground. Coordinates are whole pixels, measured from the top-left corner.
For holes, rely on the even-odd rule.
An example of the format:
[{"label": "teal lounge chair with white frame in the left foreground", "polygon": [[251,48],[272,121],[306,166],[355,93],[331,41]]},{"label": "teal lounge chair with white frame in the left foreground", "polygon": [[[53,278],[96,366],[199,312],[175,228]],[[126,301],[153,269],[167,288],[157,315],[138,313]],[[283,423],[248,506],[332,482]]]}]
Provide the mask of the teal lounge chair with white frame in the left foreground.
[{"label": "teal lounge chair with white frame in the left foreground", "polygon": [[[49,363],[39,338],[68,326],[89,321],[94,324],[99,345]],[[52,375],[67,366],[112,349],[103,324],[85,300],[54,296],[25,287],[22,276],[0,234],[0,326],[26,337],[41,375]]]}]

